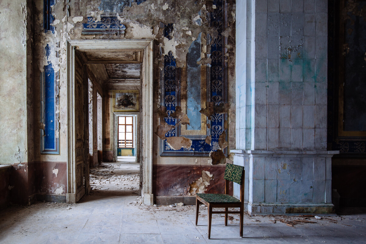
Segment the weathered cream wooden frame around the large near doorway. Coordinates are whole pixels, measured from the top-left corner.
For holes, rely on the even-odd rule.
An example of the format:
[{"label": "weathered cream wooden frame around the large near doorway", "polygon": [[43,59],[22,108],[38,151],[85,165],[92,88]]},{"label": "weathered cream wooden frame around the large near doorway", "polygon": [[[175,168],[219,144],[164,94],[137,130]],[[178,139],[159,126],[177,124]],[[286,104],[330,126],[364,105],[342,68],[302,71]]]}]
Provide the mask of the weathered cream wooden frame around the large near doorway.
[{"label": "weathered cream wooden frame around the large near doorway", "polygon": [[79,51],[121,51],[143,50],[142,62],[142,114],[143,117],[143,182],[141,195],[143,203],[153,204],[152,194],[152,104],[153,104],[153,40],[68,40],[67,41],[67,100],[68,100],[68,124],[67,124],[67,194],[66,202],[75,203],[85,190],[76,192],[76,124],[75,124],[75,50]]}]

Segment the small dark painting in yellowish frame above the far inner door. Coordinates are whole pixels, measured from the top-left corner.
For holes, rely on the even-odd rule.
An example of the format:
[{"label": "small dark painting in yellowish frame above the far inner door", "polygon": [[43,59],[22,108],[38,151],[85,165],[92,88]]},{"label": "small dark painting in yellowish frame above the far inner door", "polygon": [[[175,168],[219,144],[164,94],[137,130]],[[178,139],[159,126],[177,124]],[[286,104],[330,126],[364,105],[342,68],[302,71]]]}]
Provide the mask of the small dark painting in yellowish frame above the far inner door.
[{"label": "small dark painting in yellowish frame above the far inner door", "polygon": [[113,112],[138,112],[138,90],[113,90]]}]

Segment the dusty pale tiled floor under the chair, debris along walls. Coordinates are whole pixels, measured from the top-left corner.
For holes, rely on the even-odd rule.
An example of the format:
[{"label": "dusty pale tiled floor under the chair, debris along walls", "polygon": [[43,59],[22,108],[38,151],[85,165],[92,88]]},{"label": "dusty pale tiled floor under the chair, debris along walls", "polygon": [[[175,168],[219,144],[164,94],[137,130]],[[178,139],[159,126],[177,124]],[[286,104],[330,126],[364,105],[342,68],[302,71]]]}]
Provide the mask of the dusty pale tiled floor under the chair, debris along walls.
[{"label": "dusty pale tiled floor under the chair, debris along walls", "polygon": [[195,226],[195,206],[143,206],[136,196],[91,195],[72,205],[38,202],[0,212],[0,243],[366,243],[365,209],[321,219],[244,215],[244,238],[238,215],[224,226],[223,215],[215,214],[211,240],[206,213],[202,206]]}]

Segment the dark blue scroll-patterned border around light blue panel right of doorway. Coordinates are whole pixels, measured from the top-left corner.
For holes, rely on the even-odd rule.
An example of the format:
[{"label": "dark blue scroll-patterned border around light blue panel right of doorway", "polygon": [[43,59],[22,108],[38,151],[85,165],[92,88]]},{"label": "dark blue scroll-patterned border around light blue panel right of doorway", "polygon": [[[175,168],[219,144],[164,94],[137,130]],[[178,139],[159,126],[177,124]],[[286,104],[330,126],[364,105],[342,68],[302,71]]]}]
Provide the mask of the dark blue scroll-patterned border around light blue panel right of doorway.
[{"label": "dark blue scroll-patterned border around light blue panel right of doorway", "polygon": [[[213,4],[217,7],[213,12],[209,13],[210,26],[217,30],[217,38],[212,40],[209,35],[206,36],[206,40],[211,44],[211,53],[207,55],[212,59],[211,64],[207,64],[205,78],[202,79],[206,82],[206,101],[213,102],[214,105],[222,105],[227,102],[227,37],[222,35],[222,31],[227,27],[227,3],[225,0],[214,0]],[[173,24],[167,24],[164,26],[164,36],[169,40],[172,38],[171,32],[173,30]],[[204,69],[204,67],[202,67]],[[201,78],[202,78],[201,69]],[[183,72],[183,77],[181,73]],[[184,88],[184,82],[180,80],[187,77],[186,71],[183,68],[177,68],[175,57],[172,52],[164,57],[164,70],[161,72],[161,106],[167,108],[167,117],[164,118],[165,122],[169,125],[176,125],[178,119],[172,118],[171,113],[175,112],[176,106],[181,105],[181,90]],[[202,88],[201,80],[201,88]],[[187,82],[186,82],[187,83]],[[183,87],[183,88],[182,88]],[[183,95],[184,92],[183,92]],[[201,93],[201,100],[202,100]],[[202,102],[202,101],[201,101]],[[182,104],[183,105],[183,104]],[[183,105],[184,106],[184,105]],[[201,106],[202,108],[202,106]],[[182,108],[183,109],[183,108]],[[219,136],[225,132],[225,140],[227,140],[227,128],[224,126],[224,122],[227,119],[226,113],[214,113],[210,118],[206,117],[206,124],[209,124],[206,129],[206,134],[197,133],[197,135],[186,135],[187,129],[178,125],[165,134],[165,137],[170,136],[183,136],[192,140],[190,148],[181,148],[179,150],[172,149],[167,140],[160,140],[160,156],[201,156],[209,157],[211,151],[217,151],[220,149]],[[205,125],[206,126],[206,125]],[[202,128],[201,128],[202,131]],[[201,135],[200,135],[201,134]],[[211,136],[211,144],[205,142],[206,136]],[[223,150],[225,156],[228,154],[228,149],[225,147]]]}]

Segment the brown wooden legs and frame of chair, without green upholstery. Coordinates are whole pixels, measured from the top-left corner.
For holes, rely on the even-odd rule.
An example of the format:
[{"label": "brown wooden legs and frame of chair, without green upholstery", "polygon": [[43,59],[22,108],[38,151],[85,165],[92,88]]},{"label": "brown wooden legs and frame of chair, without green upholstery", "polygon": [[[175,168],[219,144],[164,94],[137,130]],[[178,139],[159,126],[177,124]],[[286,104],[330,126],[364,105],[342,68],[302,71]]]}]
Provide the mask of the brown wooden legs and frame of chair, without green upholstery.
[{"label": "brown wooden legs and frame of chair, without green upholstery", "polygon": [[[205,204],[208,207],[208,239],[211,239],[212,214],[225,214],[225,226],[228,225],[228,214],[240,214],[240,237],[243,237],[243,215],[244,215],[244,174],[242,174],[242,184],[240,184],[240,203],[208,203],[196,195],[196,226],[198,222],[199,205]],[[225,180],[225,194],[229,193],[229,180]],[[238,207],[239,211],[228,211],[229,207]],[[225,211],[212,211],[213,208],[225,208]]]}]

